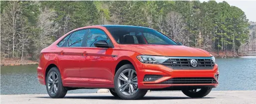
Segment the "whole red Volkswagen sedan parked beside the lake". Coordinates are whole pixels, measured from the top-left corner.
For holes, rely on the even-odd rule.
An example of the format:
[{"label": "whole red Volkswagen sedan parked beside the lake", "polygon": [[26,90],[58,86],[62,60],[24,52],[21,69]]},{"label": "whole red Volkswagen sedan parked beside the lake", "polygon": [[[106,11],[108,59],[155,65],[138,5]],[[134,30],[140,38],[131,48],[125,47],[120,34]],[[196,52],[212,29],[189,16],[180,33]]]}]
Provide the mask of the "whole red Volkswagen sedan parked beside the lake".
[{"label": "whole red Volkswagen sedan parked beside the lake", "polygon": [[40,84],[51,98],[68,90],[106,88],[135,100],[148,90],[177,90],[201,98],[218,86],[218,65],[207,51],[183,46],[140,26],[96,25],[72,30],[40,53]]}]

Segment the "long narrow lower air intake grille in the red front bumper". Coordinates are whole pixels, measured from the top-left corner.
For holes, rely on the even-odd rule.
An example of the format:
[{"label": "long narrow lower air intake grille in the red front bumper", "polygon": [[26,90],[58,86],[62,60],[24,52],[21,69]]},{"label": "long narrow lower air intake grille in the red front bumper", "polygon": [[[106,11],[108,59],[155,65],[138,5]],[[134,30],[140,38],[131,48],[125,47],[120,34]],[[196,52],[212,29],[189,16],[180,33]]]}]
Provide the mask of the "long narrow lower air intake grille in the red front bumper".
[{"label": "long narrow lower air intake grille in the red front bumper", "polygon": [[217,84],[214,78],[196,77],[196,78],[172,78],[161,82],[160,84]]}]

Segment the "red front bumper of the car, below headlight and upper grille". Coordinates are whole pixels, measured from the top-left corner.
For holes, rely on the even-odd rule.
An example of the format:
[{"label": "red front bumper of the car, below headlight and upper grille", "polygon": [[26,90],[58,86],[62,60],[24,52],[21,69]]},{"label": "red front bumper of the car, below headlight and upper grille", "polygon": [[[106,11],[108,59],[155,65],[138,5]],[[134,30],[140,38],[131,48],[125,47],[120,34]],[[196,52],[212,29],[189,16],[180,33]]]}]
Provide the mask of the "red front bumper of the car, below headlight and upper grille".
[{"label": "red front bumper of the car, below headlight and upper grille", "polygon": [[[218,65],[215,64],[214,68],[211,70],[178,70],[171,69],[164,65],[158,64],[144,64],[140,63],[138,66],[138,88],[139,89],[164,89],[164,88],[177,88],[177,87],[209,87],[215,88],[219,85],[218,79],[215,75],[219,75]],[[145,82],[143,81],[145,75],[161,75],[162,78],[153,81]],[[214,84],[161,84],[162,82],[172,79],[172,78],[214,78],[216,83]]]}]

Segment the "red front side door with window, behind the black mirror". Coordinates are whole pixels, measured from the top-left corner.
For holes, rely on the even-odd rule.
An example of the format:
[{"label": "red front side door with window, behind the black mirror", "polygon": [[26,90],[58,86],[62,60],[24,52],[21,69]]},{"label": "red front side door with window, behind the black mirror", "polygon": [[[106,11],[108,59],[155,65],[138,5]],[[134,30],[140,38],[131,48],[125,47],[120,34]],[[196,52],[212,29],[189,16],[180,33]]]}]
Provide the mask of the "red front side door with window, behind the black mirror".
[{"label": "red front side door with window, behind the black mirror", "polygon": [[94,43],[105,40],[112,44],[106,33],[101,29],[92,28],[86,38],[86,56],[80,62],[81,81],[85,84],[111,84],[111,72],[114,68],[112,48],[97,48]]}]

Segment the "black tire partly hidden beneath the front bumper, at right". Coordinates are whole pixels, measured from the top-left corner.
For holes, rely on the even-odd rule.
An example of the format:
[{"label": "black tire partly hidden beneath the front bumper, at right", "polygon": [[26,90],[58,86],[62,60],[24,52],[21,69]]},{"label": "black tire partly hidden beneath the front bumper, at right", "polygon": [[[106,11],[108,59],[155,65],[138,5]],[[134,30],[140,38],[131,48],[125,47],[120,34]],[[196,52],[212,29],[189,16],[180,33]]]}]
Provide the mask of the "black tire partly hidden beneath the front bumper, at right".
[{"label": "black tire partly hidden beneath the front bumper, at right", "polygon": [[203,98],[212,91],[212,88],[204,88],[200,91],[195,90],[182,90],[182,93],[191,98]]}]

